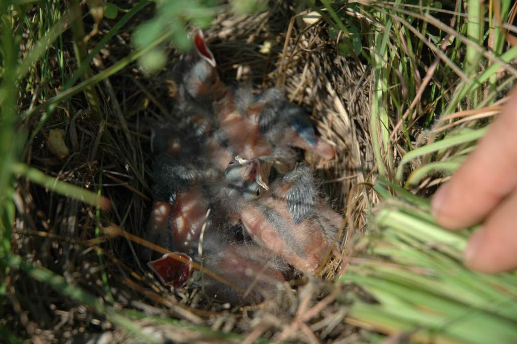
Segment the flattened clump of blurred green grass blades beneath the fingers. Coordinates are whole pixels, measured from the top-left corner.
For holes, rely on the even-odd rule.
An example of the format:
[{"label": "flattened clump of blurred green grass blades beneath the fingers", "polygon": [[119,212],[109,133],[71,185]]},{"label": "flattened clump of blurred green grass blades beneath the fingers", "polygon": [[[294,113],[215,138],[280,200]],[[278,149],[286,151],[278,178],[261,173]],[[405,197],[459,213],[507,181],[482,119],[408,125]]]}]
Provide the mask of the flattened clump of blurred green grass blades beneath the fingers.
[{"label": "flattened clump of blurred green grass blades beneath the fingers", "polygon": [[[511,343],[517,340],[517,274],[468,270],[462,252],[469,231],[450,232],[432,220],[429,202],[386,181],[372,233],[360,240],[340,278],[378,303],[357,297],[348,322],[416,342]],[[393,194],[390,192],[393,190]]]}]

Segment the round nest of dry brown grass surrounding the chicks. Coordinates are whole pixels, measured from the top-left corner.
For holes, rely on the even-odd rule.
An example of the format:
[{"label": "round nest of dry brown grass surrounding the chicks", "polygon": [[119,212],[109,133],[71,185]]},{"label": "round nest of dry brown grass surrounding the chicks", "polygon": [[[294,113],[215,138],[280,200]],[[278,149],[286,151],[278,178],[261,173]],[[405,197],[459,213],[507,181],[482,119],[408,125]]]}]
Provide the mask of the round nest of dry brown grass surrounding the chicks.
[{"label": "round nest of dry brown grass surrounding the chicks", "polygon": [[[99,71],[130,51],[133,28],[127,27],[101,51]],[[207,300],[192,285],[172,291],[139,262],[139,237],[145,236],[151,211],[149,127],[171,118],[177,90],[170,71],[179,58],[173,49],[169,64],[153,76],[135,65],[99,84],[106,121],[92,118],[85,98],[78,96],[45,124],[29,149],[27,163],[62,181],[102,186],[112,208],[99,211],[20,178],[14,250],[117,309],[155,316],[135,320],[139,328],[134,332],[159,341],[353,340],[350,336],[358,336],[358,331],[343,322],[347,305],[337,298],[345,291],[334,280],[344,272],[351,253],[348,243],[366,230],[369,206],[375,202],[368,187],[374,169],[369,70],[338,53],[325,22],[309,24],[303,13],[296,14],[282,2],[254,16],[221,13],[205,36],[224,81],[281,89],[310,113],[320,137],[334,145],[336,156],[330,161],[299,154],[316,171],[334,210],[345,218],[342,240],[335,243],[340,255],[329,260],[317,278],[296,275],[281,300],[248,306]],[[67,56],[73,61],[71,49]],[[51,129],[65,132],[73,153],[64,160],[49,151]],[[11,273],[7,292],[13,312],[4,320],[22,336],[50,342],[138,341],[127,327],[114,326],[110,316],[26,274]],[[156,316],[179,322],[158,324]]]}]

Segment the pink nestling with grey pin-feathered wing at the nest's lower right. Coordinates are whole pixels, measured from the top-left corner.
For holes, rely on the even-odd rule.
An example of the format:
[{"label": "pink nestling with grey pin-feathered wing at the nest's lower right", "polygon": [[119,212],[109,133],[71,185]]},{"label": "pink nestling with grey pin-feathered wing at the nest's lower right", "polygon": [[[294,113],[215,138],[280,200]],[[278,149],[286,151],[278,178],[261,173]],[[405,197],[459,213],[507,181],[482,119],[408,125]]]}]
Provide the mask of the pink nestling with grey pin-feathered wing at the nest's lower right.
[{"label": "pink nestling with grey pin-feathered wing at the nest's lower right", "polygon": [[[257,160],[247,161],[253,171],[259,170]],[[235,170],[233,176],[239,169],[234,166],[229,166]],[[298,270],[314,274],[344,225],[343,219],[318,196],[309,167],[300,165],[284,175],[276,172],[276,180],[269,177],[267,188],[261,189],[258,186],[264,178],[261,173],[247,173],[250,166],[240,166],[242,180],[234,191],[241,192],[236,216],[257,244]],[[253,197],[255,189],[262,193]]]}]

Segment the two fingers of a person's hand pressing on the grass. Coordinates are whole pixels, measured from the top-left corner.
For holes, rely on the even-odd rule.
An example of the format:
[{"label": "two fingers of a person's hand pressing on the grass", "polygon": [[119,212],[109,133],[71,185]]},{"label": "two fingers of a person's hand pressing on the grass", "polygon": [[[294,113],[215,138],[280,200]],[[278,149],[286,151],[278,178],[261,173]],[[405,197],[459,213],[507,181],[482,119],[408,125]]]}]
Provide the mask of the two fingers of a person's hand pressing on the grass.
[{"label": "two fingers of a person's hand pressing on the grass", "polygon": [[476,150],[432,202],[436,221],[447,229],[482,221],[464,253],[474,270],[497,273],[517,267],[516,172],[517,87]]}]

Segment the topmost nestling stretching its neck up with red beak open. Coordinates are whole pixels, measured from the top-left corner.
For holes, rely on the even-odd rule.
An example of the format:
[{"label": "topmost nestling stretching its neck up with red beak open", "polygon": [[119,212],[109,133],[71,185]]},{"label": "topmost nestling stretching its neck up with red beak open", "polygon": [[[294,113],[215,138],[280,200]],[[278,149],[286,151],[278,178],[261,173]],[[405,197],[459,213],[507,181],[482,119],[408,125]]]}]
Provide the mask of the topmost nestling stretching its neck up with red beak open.
[{"label": "topmost nestling stretching its neck up with red beak open", "polygon": [[201,30],[194,33],[193,42],[193,52],[176,67],[178,111],[211,110],[215,123],[210,131],[217,139],[210,143],[214,156],[222,158],[218,160],[220,166],[224,165],[221,161],[227,163],[235,155],[246,159],[271,155],[277,146],[299,147],[325,159],[333,158],[333,147],[316,136],[308,116],[278,89],[270,88],[255,96],[248,87],[226,86]]}]

